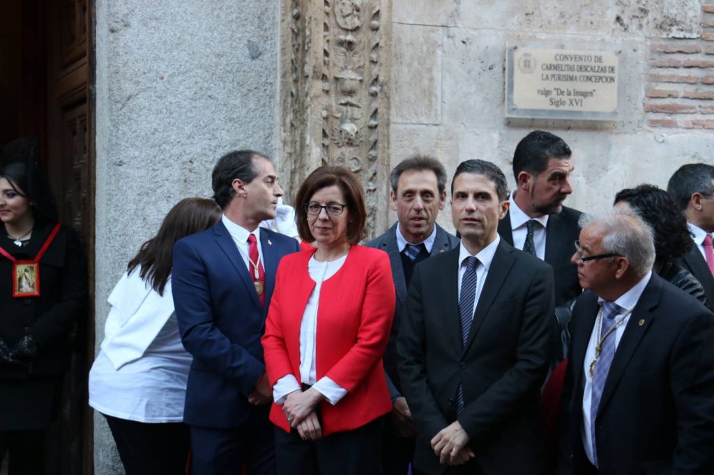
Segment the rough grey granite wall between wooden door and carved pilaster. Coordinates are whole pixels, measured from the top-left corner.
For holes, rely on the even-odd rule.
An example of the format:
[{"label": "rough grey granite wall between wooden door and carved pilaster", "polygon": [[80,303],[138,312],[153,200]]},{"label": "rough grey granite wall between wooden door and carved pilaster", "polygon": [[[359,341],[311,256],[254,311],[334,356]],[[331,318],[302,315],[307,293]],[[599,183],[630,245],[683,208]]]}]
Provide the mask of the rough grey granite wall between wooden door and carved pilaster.
[{"label": "rough grey granite wall between wooden door and carved pilaster", "polygon": [[[126,263],[234,148],[276,150],[278,4],[96,1],[96,350]],[[95,417],[95,473],[123,473]]]}]

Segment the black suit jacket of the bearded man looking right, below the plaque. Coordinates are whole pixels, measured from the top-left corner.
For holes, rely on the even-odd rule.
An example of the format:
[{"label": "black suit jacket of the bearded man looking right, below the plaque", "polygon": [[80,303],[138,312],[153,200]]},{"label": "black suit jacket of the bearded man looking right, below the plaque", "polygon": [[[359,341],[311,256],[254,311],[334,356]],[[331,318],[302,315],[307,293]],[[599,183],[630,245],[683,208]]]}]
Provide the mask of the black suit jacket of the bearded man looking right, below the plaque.
[{"label": "black suit jacket of the bearded man looking right, below the plaque", "polygon": [[[560,213],[548,216],[548,226],[545,228],[545,262],[553,267],[555,275],[555,306],[563,307],[577,298],[581,292],[578,269],[570,262],[575,252],[573,243],[580,237],[580,219],[578,210],[563,206]],[[506,213],[498,223],[498,234],[508,244],[513,245],[513,230],[511,229],[511,213]]]}]

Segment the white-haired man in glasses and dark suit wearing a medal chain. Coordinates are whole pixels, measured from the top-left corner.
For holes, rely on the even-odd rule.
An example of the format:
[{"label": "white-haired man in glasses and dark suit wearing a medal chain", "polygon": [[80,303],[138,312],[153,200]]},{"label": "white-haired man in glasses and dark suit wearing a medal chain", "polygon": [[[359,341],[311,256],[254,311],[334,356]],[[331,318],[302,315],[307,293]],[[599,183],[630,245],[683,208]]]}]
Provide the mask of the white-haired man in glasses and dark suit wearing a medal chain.
[{"label": "white-haired man in glasses and dark suit wearing a medal chain", "polygon": [[559,475],[714,473],[714,315],[652,272],[652,230],[582,220]]}]

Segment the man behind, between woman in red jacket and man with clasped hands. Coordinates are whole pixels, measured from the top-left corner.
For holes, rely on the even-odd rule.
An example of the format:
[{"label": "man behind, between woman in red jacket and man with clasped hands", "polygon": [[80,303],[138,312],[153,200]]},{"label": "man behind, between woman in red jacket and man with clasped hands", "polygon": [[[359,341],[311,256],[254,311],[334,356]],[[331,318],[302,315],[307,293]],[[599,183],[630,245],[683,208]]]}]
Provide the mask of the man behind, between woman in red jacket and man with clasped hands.
[{"label": "man behind, between woman in red jacket and man with clasped hands", "polygon": [[389,175],[391,205],[397,222],[368,242],[389,255],[396,290],[392,332],[384,353],[384,369],[393,410],[385,424],[383,469],[385,474],[406,475],[414,453],[414,424],[397,374],[396,340],[403,305],[414,267],[426,258],[458,247],[458,239],[436,224],[446,205],[446,170],[436,158],[412,155]]}]

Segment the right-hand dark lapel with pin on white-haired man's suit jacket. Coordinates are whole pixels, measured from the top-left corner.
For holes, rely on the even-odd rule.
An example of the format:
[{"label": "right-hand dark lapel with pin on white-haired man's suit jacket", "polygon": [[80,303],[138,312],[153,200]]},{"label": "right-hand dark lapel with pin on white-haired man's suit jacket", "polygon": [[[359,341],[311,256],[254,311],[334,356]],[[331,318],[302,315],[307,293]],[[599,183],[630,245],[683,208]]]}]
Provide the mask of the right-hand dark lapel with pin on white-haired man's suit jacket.
[{"label": "right-hand dark lapel with pin on white-haired man's suit jacket", "polygon": [[652,322],[653,318],[651,310],[657,306],[661,290],[662,283],[660,282],[660,277],[653,272],[652,277],[650,277],[650,282],[648,282],[647,287],[645,287],[644,292],[642,292],[640,296],[640,300],[638,300],[637,305],[635,305],[635,310],[632,315],[630,315],[630,320],[628,321],[627,327],[625,327],[625,332],[623,332],[620,343],[615,350],[615,356],[613,357],[613,362],[608,372],[608,379],[605,379],[605,387],[603,388],[603,396],[600,399],[598,414],[600,414],[603,408],[608,404],[608,400],[612,397],[618,382],[620,382],[620,378],[623,376],[625,369],[627,369],[627,365],[630,359],[632,359],[635,349],[637,349],[640,340],[650,326],[650,322]]}]

